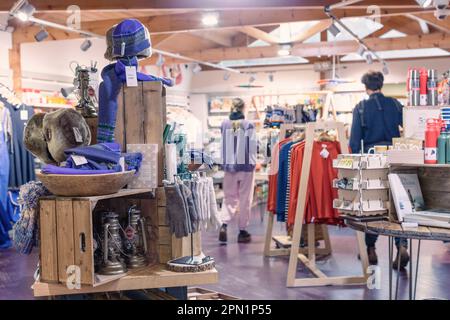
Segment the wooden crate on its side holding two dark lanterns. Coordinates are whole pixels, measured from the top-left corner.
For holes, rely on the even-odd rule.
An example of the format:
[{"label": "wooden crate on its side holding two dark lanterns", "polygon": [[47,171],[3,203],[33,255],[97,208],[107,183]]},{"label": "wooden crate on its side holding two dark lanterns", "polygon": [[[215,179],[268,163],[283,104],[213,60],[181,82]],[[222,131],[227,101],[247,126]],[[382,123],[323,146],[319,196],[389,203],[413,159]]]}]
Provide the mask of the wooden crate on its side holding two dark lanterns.
[{"label": "wooden crate on its side holding two dark lanterns", "polygon": [[[157,194],[163,194],[158,188]],[[141,209],[146,218],[148,260],[150,265],[166,263],[190,253],[188,239],[171,236],[166,223],[165,201],[149,189],[123,189],[98,197],[46,197],[40,201],[40,281],[65,283],[69,266],[78,266],[81,283],[98,286],[120,276],[100,276],[94,272],[94,223],[102,210],[125,214],[131,205]],[[199,235],[194,237],[195,252],[201,252]]]}]

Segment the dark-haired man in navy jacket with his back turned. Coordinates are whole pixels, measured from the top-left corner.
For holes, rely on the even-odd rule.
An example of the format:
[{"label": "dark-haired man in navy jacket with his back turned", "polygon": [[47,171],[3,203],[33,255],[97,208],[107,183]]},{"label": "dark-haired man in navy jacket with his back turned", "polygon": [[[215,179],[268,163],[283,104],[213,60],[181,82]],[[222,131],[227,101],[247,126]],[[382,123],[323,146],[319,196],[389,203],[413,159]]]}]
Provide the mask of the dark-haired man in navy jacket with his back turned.
[{"label": "dark-haired man in navy jacket with his back turned", "polygon": [[[361,82],[366,86],[368,100],[358,103],[353,110],[353,123],[350,134],[350,148],[353,153],[361,152],[361,141],[367,152],[375,145],[391,145],[392,138],[400,137],[400,126],[403,125],[402,105],[396,99],[385,97],[381,93],[384,76],[381,72],[366,73]],[[378,236],[366,234],[367,253],[370,264],[377,264],[378,257],[375,243]],[[396,238],[397,257],[394,261],[396,269],[398,263],[404,268],[409,261],[408,242]]]}]

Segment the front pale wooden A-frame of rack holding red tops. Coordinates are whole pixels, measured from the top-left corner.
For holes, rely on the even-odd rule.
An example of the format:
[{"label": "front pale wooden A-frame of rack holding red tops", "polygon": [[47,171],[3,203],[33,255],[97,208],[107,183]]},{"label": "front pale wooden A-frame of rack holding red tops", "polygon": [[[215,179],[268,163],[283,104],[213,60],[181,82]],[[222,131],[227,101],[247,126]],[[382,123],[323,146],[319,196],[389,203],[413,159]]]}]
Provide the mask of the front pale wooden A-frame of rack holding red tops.
[{"label": "front pale wooden A-frame of rack holding red tops", "polygon": [[[302,236],[302,223],[305,216],[306,197],[308,192],[308,181],[310,177],[314,135],[316,131],[336,130],[340,142],[341,152],[348,153],[347,138],[345,136],[344,124],[336,121],[320,121],[306,124],[305,152],[303,157],[302,171],[300,175],[300,187],[298,190],[298,202],[295,213],[295,224],[290,248],[289,268],[287,274],[287,287],[308,287],[328,285],[362,285],[367,281],[366,271],[368,267],[367,251],[365,250],[364,233],[357,232],[357,244],[361,258],[361,276],[334,276],[328,277],[316,266],[316,248],[308,246],[308,257],[299,253],[300,239]],[[314,224],[308,224],[308,243],[315,243]],[[315,278],[297,278],[297,266],[300,260],[315,276]]]}]

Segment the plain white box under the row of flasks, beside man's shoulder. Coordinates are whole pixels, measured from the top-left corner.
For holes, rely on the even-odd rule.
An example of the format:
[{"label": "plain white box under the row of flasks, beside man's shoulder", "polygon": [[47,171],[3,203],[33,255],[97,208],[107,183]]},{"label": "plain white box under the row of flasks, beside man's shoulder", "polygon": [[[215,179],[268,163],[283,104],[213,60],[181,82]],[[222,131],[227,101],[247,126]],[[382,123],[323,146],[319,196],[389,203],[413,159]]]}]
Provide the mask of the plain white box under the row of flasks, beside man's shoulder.
[{"label": "plain white box under the row of flasks, beside man's shoulder", "polygon": [[425,140],[427,119],[438,119],[440,117],[440,107],[404,107],[403,129],[405,138]]}]

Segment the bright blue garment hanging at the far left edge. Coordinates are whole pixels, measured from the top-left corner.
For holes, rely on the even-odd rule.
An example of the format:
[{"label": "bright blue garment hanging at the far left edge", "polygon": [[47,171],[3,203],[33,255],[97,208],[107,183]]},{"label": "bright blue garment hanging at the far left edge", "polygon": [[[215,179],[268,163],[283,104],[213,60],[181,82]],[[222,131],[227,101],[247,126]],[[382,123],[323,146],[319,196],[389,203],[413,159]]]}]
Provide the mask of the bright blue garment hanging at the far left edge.
[{"label": "bright blue garment hanging at the far left edge", "polygon": [[8,180],[9,180],[9,152],[8,152],[8,123],[9,111],[0,108],[0,248],[9,248],[11,240],[8,232],[11,230],[11,217],[8,214]]}]

